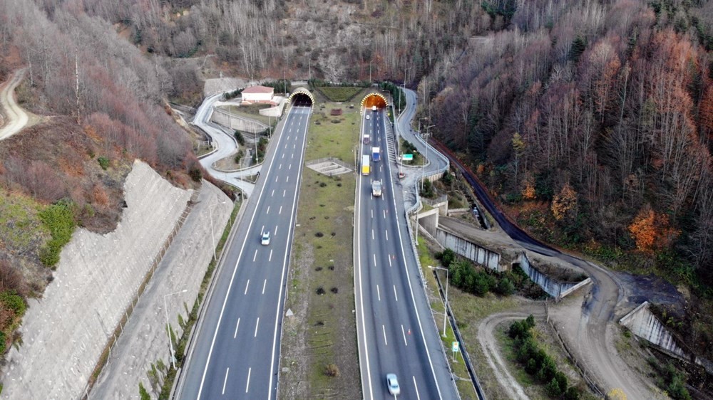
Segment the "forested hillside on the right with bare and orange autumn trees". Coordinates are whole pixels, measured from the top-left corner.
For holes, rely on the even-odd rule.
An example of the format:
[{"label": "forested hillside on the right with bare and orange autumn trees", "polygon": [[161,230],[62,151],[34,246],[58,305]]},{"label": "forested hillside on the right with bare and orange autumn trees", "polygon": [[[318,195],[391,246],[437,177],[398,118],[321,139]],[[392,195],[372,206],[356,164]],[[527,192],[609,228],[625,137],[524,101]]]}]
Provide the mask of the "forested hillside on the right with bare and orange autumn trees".
[{"label": "forested hillside on the right with bare and orange autumn trees", "polygon": [[692,285],[710,325],[713,4],[526,3],[424,80],[424,115],[521,226]]}]

